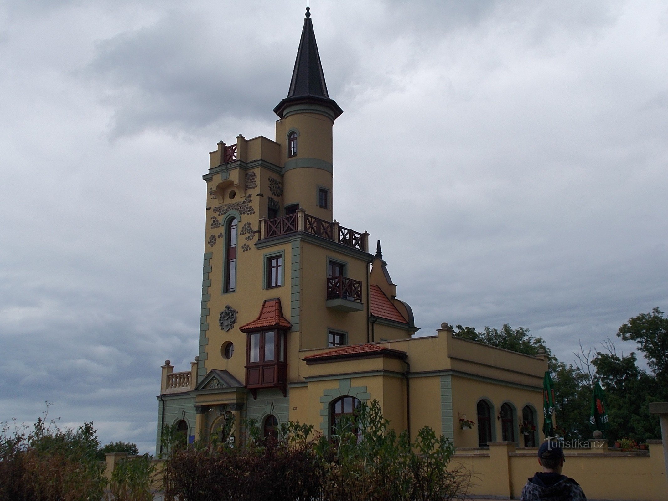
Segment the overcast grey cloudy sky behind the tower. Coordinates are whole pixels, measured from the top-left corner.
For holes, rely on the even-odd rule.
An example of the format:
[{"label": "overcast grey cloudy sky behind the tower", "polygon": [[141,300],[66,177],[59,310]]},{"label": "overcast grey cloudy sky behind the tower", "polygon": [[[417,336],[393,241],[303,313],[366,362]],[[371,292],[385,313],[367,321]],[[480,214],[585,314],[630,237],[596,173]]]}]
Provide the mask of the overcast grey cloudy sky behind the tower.
[{"label": "overcast grey cloudy sky behind the tower", "polygon": [[[154,452],[160,365],[197,352],[208,152],[273,138],[304,7],[0,4],[0,421],[48,400]],[[510,323],[571,361],[668,309],[665,1],[311,11],[335,217],[381,238],[420,333]]]}]

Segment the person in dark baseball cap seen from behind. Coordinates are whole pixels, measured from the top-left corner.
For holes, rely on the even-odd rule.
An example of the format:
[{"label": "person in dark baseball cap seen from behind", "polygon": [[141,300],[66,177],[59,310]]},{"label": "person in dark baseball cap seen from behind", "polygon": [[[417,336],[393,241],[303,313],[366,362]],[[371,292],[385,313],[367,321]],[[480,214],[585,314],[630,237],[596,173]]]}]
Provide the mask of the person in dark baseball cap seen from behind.
[{"label": "person in dark baseball cap seen from behind", "polygon": [[580,485],[561,474],[564,451],[557,442],[547,440],[538,448],[542,472],[528,479],[522,489],[522,501],[587,501]]}]

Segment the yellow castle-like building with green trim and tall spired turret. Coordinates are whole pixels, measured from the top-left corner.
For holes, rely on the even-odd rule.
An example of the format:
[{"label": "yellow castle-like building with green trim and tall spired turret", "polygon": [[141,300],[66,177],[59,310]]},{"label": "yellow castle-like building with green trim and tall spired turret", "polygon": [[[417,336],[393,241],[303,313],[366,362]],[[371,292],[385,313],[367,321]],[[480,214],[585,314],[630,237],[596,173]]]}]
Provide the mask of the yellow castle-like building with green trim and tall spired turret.
[{"label": "yellow castle-like building with green trim and tall spired turret", "polygon": [[[307,7],[274,140],[238,136],[210,153],[200,350],[189,371],[162,367],[164,426],[235,442],[248,418],[266,434],[288,421],[329,435],[377,399],[411,436],[428,425],[458,447],[533,446],[545,357],[454,337],[415,336],[380,242],[333,219],[329,97]],[[473,422],[469,428],[466,422]],[[476,433],[477,430],[477,433]],[[526,432],[526,430],[524,430]]]}]

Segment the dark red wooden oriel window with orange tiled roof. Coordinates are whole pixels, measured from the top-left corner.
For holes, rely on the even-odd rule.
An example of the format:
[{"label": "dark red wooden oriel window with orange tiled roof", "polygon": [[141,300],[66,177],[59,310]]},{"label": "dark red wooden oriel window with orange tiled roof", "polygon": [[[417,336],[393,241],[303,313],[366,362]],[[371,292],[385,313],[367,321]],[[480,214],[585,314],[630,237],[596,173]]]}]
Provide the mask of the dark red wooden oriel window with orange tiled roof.
[{"label": "dark red wooden oriel window with orange tiled roof", "polygon": [[256,320],[239,327],[246,333],[246,387],[279,388],[287,394],[287,333],[291,323],[283,317],[280,299],[267,299]]}]

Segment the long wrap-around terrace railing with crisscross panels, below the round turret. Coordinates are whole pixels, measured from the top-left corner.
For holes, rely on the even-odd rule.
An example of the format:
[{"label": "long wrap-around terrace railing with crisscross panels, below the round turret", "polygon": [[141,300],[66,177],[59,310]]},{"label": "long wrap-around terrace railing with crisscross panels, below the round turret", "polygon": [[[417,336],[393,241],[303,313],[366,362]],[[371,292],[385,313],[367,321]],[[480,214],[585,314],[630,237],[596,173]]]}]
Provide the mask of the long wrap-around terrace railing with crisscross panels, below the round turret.
[{"label": "long wrap-around terrace railing with crisscross panels, below the round turret", "polygon": [[332,242],[355,248],[358,251],[369,251],[369,234],[359,233],[350,228],[341,226],[337,220],[327,220],[311,216],[300,209],[295,214],[289,214],[275,219],[260,219],[261,238],[275,238],[291,233],[305,232],[326,238]]}]

